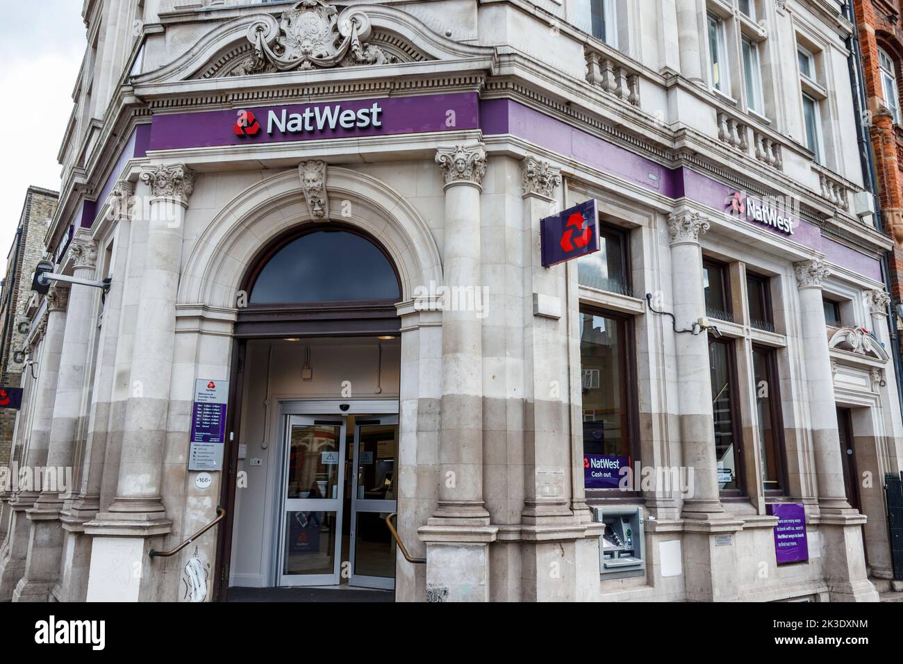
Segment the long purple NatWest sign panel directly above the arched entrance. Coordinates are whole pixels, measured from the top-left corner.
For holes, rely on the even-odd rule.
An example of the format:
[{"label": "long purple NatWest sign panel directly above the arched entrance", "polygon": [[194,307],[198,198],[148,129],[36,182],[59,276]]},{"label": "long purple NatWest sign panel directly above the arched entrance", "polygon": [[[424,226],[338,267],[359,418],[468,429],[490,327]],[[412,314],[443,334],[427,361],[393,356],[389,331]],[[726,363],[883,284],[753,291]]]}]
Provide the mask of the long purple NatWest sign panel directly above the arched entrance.
[{"label": "long purple NatWest sign panel directly above the arched entrance", "polygon": [[148,150],[391,136],[479,127],[476,92],[154,116]]}]

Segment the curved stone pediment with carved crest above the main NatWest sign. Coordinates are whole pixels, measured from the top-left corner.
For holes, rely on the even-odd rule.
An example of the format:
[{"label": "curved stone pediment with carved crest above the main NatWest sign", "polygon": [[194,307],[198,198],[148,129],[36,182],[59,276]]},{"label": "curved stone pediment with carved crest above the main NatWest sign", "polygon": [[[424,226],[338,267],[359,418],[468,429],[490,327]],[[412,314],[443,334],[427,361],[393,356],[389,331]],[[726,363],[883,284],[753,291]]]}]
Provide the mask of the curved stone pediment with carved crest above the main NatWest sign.
[{"label": "curved stone pediment with carved crest above the main NatWest sign", "polygon": [[488,66],[494,59],[493,48],[455,42],[391,6],[302,0],[279,15],[246,14],[220,23],[176,60],[133,83],[437,60],[482,60]]}]

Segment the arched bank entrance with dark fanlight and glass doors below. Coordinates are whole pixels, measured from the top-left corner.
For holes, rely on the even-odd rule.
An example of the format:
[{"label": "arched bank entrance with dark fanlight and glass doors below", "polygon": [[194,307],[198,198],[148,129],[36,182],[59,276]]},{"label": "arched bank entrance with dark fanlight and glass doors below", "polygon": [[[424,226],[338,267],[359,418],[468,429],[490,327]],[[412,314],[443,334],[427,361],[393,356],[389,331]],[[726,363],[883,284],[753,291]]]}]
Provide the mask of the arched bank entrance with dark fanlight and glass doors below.
[{"label": "arched bank entrance with dark fanlight and glass doors below", "polygon": [[[393,589],[402,285],[375,238],[306,223],[239,290],[228,586]],[[224,581],[227,581],[224,579]]]}]

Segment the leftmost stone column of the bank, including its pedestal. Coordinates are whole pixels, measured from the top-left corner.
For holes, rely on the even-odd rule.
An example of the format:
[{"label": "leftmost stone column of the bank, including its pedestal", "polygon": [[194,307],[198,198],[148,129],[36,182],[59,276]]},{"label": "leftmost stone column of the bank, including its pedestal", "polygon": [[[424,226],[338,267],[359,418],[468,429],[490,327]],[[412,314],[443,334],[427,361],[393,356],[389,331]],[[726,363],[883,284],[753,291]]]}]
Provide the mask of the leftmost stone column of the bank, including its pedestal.
[{"label": "leftmost stone column of the bank, including its pedestal", "polygon": [[[40,323],[42,329],[41,355],[37,359],[38,379],[34,386],[32,430],[24,438],[23,470],[27,477],[35,477],[47,465],[47,447],[53,421],[53,403],[56,400],[57,374],[60,370],[62,337],[66,327],[66,307],[69,290],[52,285],[47,293],[47,319]],[[7,535],[6,557],[0,560],[0,601],[13,597],[15,585],[25,573],[25,558],[31,535],[31,523],[27,510],[31,510],[41,493],[39,484],[20,486],[8,505],[13,510]]]}]

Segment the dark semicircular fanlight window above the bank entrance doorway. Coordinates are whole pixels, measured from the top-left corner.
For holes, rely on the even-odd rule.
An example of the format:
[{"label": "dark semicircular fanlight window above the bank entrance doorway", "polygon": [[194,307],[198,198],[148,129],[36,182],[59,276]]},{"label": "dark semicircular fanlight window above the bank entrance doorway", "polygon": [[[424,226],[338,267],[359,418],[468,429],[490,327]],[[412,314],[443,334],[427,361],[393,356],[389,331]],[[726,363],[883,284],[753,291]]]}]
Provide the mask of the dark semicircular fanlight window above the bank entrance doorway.
[{"label": "dark semicircular fanlight window above the bank entrance doorway", "polygon": [[248,304],[398,302],[395,268],[372,240],[320,227],[279,244],[251,279]]}]

